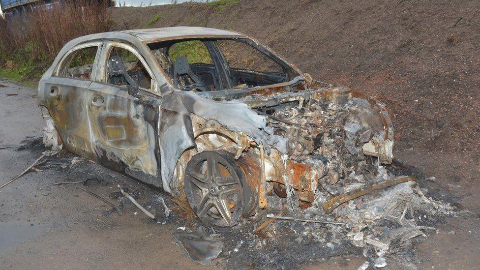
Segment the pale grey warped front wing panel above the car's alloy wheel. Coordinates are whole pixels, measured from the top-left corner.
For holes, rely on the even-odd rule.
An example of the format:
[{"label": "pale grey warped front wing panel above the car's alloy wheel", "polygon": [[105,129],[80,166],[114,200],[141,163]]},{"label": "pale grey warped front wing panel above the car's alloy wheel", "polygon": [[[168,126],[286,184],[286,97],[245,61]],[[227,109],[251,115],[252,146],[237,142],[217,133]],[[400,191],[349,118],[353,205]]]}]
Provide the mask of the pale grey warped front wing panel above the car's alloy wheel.
[{"label": "pale grey warped front wing panel above the car's alloy wheel", "polygon": [[[195,146],[191,130],[190,113],[205,120],[216,120],[232,131],[240,131],[258,144],[286,149],[286,140],[269,134],[266,118],[238,101],[216,102],[186,91],[172,91],[163,96],[160,105],[159,148],[163,187],[168,187],[174,177],[180,155]],[[271,131],[270,131],[271,132]]]}]

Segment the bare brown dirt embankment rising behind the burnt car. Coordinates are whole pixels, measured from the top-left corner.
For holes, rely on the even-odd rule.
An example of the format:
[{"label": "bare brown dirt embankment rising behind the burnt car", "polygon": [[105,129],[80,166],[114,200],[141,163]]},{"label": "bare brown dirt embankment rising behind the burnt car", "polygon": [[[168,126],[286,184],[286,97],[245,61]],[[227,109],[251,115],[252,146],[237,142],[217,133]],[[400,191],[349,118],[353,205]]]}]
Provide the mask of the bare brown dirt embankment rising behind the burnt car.
[{"label": "bare brown dirt embankment rising behind the burnt car", "polygon": [[386,103],[397,150],[475,155],[480,1],[224,1],[113,8],[120,29],[202,26],[251,35],[314,78]]}]

